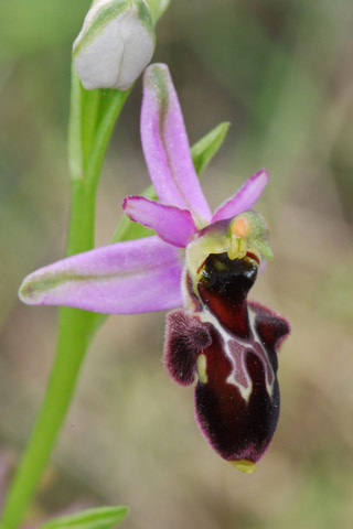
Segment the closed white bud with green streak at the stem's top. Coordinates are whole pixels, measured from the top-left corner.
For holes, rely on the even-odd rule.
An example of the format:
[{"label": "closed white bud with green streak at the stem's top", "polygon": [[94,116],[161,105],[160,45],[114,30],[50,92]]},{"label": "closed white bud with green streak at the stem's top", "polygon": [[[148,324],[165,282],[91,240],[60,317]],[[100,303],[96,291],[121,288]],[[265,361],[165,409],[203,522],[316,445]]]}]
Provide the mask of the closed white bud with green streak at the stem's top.
[{"label": "closed white bud with green streak at the stem's top", "polygon": [[74,42],[74,66],[88,90],[126,90],[151,61],[154,42],[145,0],[97,0]]}]

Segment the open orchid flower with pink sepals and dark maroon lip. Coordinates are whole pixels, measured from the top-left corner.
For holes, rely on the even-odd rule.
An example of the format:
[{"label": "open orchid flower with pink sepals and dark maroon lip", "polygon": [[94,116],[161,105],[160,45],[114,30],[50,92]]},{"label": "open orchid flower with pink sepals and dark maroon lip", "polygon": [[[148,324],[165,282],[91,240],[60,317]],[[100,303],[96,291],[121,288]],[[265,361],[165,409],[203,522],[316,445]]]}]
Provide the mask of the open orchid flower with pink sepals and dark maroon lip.
[{"label": "open orchid flower with pink sepals and dark maroon lip", "polygon": [[259,268],[272,258],[267,223],[252,209],[269,175],[250,176],[212,214],[162,64],[145,73],[141,139],[159,202],[128,196],[124,210],[157,235],[42,268],[24,280],[20,296],[111,314],[173,310],[167,368],[182,386],[195,381],[195,415],[212,447],[253,472],[277,425],[277,350],[290,331],[276,312],[247,302]]}]

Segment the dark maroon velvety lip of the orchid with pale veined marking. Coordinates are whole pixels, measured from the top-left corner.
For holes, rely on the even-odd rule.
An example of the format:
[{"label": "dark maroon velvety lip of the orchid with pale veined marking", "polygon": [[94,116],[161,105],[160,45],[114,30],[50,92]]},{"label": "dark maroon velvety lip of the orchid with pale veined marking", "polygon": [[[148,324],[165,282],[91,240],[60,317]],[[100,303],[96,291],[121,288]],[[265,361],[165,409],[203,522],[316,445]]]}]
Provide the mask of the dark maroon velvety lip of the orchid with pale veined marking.
[{"label": "dark maroon velvety lip of the orchid with pale veined marking", "polygon": [[196,379],[201,431],[222,457],[240,469],[264,455],[275,433],[277,350],[290,332],[284,317],[247,302],[258,270],[252,257],[208,256],[196,293],[190,292],[197,298],[195,312],[168,315],[164,354],[179,384]]}]

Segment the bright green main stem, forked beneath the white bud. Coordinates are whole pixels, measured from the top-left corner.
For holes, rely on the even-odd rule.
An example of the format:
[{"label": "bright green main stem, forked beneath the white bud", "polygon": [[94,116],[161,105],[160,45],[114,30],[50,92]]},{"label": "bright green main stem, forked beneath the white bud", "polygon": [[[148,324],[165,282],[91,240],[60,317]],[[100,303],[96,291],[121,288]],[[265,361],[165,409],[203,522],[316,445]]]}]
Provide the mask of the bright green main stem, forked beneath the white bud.
[{"label": "bright green main stem, forked beneath the white bud", "polygon": [[[130,90],[85,90],[72,72],[68,159],[72,206],[66,256],[90,250],[100,170],[114,126]],[[1,527],[14,529],[36,489],[55,445],[89,345],[95,314],[62,307],[55,361],[32,435],[12,482]]]}]

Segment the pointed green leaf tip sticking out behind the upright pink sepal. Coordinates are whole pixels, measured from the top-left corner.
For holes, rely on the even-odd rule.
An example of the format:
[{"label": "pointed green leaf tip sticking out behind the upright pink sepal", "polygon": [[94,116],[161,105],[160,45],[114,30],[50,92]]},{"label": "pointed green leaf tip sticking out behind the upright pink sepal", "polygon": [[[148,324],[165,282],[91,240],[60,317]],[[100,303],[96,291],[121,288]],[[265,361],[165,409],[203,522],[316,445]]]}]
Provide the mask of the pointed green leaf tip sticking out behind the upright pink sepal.
[{"label": "pointed green leaf tip sticking out behind the upright pink sepal", "polygon": [[220,123],[191,148],[192,161],[199,176],[222,145],[229,125],[228,121]]}]

